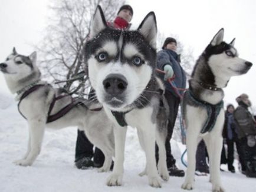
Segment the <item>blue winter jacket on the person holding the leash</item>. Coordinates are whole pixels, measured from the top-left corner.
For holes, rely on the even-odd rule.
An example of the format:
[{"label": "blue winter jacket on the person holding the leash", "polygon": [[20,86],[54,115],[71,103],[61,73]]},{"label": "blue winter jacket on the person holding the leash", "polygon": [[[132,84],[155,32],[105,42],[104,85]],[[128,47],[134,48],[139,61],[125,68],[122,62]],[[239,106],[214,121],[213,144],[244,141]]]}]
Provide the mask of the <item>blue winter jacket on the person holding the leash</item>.
[{"label": "blue winter jacket on the person holding the leash", "polygon": [[[173,72],[175,74],[174,84],[177,88],[186,88],[186,74],[183,68],[179,64],[179,57],[175,51],[170,49],[163,49],[162,51],[157,52],[157,68],[163,71],[165,65],[172,66]],[[163,80],[164,75],[159,74],[159,77]],[[179,97],[173,90],[172,86],[168,81],[165,81],[166,90],[172,92],[173,95]],[[183,94],[183,91],[179,91],[180,94]]]}]

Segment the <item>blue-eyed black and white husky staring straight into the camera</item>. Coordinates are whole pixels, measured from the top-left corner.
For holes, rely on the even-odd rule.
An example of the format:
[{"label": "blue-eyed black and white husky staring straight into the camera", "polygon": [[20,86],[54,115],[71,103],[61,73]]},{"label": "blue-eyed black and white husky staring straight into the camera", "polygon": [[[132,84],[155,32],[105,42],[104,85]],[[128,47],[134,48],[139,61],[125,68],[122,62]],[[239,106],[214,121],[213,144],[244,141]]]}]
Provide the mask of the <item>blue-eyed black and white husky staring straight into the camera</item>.
[{"label": "blue-eyed black and white husky staring straight into the camera", "polygon": [[115,124],[115,161],[113,173],[107,179],[108,186],[122,185],[127,125],[137,128],[140,145],[146,153],[146,169],[142,174],[147,174],[150,186],[161,186],[155,141],[159,146],[159,174],[163,180],[169,179],[166,128],[156,129],[162,88],[155,75],[156,34],[153,12],[147,14],[137,31],[108,27],[100,6],[91,22],[85,51],[88,77],[97,99]]}]

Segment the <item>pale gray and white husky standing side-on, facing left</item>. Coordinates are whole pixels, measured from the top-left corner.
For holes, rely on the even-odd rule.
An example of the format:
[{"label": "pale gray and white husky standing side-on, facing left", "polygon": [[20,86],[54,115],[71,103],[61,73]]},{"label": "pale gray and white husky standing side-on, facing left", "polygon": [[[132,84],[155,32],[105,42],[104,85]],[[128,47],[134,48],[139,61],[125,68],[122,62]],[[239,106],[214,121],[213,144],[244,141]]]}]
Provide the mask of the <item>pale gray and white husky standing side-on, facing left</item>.
[{"label": "pale gray and white husky standing side-on, facing left", "polygon": [[99,102],[74,100],[41,81],[36,55],[36,52],[28,57],[19,55],[14,48],[6,61],[0,64],[9,90],[17,93],[19,112],[27,119],[29,127],[27,153],[15,163],[22,166],[34,163],[41,150],[45,127],[76,126],[103,151],[106,158],[100,171],[109,171],[114,155],[114,134],[106,112],[100,110]]}]

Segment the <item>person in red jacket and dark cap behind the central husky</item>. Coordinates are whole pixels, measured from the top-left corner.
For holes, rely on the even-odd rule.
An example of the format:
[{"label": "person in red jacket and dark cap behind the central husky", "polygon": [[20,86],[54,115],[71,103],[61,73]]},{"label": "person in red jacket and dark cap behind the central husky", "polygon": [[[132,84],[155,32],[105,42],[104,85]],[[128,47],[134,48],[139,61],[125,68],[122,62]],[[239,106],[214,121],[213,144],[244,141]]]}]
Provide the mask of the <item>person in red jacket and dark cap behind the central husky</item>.
[{"label": "person in red jacket and dark cap behind the central husky", "polygon": [[[113,22],[107,22],[109,27],[116,29],[130,29],[130,21],[133,17],[133,9],[130,5],[123,5],[117,12],[117,16]],[[89,100],[93,98],[93,90],[90,91]],[[93,160],[92,160],[93,158]],[[93,151],[93,144],[90,143],[84,131],[78,130],[76,142],[75,165],[80,169],[87,169],[89,167],[102,167],[105,157],[99,148]],[[113,166],[111,166],[112,168]]]}]

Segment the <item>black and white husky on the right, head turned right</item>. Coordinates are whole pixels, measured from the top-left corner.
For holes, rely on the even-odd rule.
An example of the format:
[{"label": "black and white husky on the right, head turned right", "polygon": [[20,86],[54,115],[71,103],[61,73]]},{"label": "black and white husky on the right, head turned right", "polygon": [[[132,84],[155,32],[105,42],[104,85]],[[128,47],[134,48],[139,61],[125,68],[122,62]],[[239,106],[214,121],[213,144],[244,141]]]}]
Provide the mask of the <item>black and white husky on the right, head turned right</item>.
[{"label": "black and white husky on the right, head turned right", "polygon": [[227,44],[223,37],[224,29],[220,29],[196,61],[189,90],[183,98],[188,169],[182,188],[187,190],[194,187],[196,148],[203,139],[209,154],[212,191],[224,191],[219,171],[224,125],[222,88],[232,76],[247,73],[252,63],[238,57],[235,39]]}]

